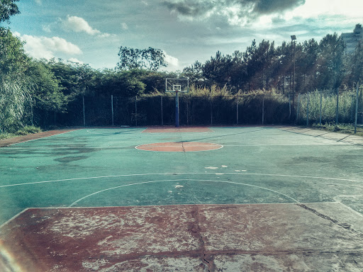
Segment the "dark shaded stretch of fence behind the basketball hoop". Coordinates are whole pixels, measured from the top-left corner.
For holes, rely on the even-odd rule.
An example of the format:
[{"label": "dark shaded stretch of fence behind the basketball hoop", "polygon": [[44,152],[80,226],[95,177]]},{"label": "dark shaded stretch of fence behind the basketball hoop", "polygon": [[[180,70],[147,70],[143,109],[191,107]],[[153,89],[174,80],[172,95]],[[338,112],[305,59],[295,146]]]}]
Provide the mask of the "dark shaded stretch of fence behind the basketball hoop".
[{"label": "dark shaded stretch of fence behind the basketball hoop", "polygon": [[[180,125],[291,123],[292,100],[286,96],[179,97]],[[57,113],[55,125],[174,125],[174,96],[79,96]],[[49,115],[50,113],[48,113]],[[50,118],[47,118],[49,121]]]}]

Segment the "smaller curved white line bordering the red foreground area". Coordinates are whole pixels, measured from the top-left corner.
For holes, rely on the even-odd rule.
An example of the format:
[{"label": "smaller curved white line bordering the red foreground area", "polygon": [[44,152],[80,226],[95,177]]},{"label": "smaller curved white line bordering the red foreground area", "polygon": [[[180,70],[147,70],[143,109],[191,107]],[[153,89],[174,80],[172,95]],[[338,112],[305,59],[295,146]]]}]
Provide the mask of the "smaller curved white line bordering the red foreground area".
[{"label": "smaller curved white line bordering the red foreground area", "polygon": [[144,181],[144,182],[139,182],[139,183],[130,183],[130,184],[125,184],[125,185],[121,185],[121,186],[116,186],[116,187],[112,187],[112,188],[107,188],[95,193],[91,193],[88,196],[84,196],[83,198],[79,198],[79,200],[74,201],[74,203],[72,203],[71,205],[69,205],[69,208],[72,207],[73,205],[76,205],[77,203],[79,203],[79,201],[84,200],[85,198],[89,198],[90,196],[94,196],[97,193],[102,193],[104,191],[110,191],[116,188],[122,188],[122,187],[128,187],[128,186],[135,186],[135,185],[140,185],[140,184],[146,184],[146,183],[157,183],[157,182],[167,182],[167,181],[196,181],[196,182],[203,182],[203,181],[209,181],[209,182],[218,182],[218,183],[231,183],[231,184],[237,184],[237,185],[242,185],[242,186],[250,186],[250,187],[255,187],[255,188],[260,188],[262,190],[266,190],[266,191],[271,191],[273,193],[277,193],[281,196],[285,196],[286,198],[290,198],[291,200],[294,200],[294,202],[296,203],[300,203],[298,200],[296,200],[295,198],[291,198],[291,196],[288,196],[284,193],[280,193],[279,191],[274,191],[271,190],[269,188],[264,188],[261,186],[255,186],[255,185],[251,185],[251,184],[246,184],[246,183],[238,183],[238,182],[233,182],[233,181],[214,181],[214,180],[210,180],[210,179],[165,179],[165,180],[161,180],[161,181]]}]

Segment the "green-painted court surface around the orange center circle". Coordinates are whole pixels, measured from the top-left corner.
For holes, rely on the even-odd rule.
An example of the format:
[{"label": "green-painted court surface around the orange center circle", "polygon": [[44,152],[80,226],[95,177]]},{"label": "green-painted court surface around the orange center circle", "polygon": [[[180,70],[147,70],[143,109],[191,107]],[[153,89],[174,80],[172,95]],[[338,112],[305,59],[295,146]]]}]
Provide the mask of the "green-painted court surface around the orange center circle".
[{"label": "green-painted court surface around the orange center circle", "polygon": [[[0,231],[26,208],[311,203],[314,211],[331,204],[332,222],[344,213],[362,220],[359,137],[293,127],[145,129],[84,128],[0,148]],[[136,148],[166,142],[220,148]]]}]

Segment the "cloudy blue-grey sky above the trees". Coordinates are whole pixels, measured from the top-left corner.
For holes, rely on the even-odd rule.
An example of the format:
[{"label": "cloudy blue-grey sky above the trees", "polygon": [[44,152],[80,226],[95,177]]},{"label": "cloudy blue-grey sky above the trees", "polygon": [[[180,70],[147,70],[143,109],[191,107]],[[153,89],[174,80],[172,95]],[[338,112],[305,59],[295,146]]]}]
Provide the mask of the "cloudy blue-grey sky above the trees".
[{"label": "cloudy blue-grey sky above the trees", "polygon": [[121,46],[164,51],[167,71],[206,62],[252,40],[281,45],[350,33],[363,24],[362,0],[20,0],[13,33],[30,57],[112,69]]}]

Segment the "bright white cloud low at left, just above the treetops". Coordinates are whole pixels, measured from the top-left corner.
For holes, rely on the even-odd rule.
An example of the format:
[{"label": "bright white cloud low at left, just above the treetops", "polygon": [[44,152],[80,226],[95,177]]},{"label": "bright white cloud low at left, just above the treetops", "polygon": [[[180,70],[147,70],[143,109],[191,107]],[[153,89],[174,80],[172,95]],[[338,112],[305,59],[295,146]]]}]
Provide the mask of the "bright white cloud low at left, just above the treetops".
[{"label": "bright white cloud low at left, just above the treetops", "polygon": [[55,53],[62,52],[67,55],[80,55],[82,50],[72,42],[59,37],[47,38],[43,36],[20,35],[16,33],[22,40],[26,41],[24,49],[31,57],[51,59],[55,57]]}]

